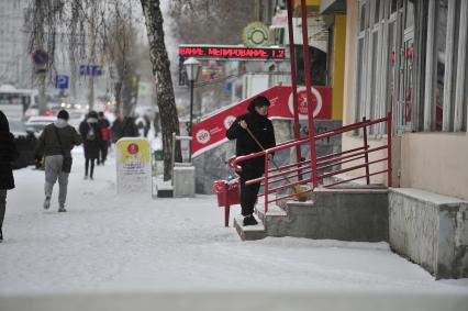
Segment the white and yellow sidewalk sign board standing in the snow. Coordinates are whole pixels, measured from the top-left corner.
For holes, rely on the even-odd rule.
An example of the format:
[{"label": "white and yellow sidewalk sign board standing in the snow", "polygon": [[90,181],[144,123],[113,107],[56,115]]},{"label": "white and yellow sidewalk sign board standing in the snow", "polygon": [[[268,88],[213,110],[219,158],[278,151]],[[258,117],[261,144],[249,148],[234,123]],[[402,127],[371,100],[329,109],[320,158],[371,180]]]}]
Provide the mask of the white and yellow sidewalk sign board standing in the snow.
[{"label": "white and yellow sidewalk sign board standing in the snow", "polygon": [[147,140],[119,140],[115,163],[118,193],[152,193],[152,157]]}]

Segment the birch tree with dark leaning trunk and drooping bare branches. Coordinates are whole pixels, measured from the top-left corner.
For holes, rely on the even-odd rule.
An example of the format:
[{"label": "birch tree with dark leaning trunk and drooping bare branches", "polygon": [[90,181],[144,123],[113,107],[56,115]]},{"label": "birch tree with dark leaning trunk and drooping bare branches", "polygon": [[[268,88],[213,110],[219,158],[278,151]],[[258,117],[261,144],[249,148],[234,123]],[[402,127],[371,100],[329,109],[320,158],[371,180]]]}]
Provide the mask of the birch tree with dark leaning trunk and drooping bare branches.
[{"label": "birch tree with dark leaning trunk and drooping bare branches", "polygon": [[[57,32],[68,30],[69,37],[69,62],[71,68],[76,68],[76,59],[89,57],[91,60],[98,58],[98,52],[109,53],[109,47],[114,45],[109,37],[110,26],[107,26],[110,12],[112,9],[119,8],[119,3],[123,3],[120,10],[113,11],[113,14],[121,16],[127,8],[132,8],[137,0],[33,0],[32,16],[30,19],[31,40],[30,52],[37,48],[45,49],[49,55],[48,68],[53,69],[55,56],[55,40]],[[141,0],[140,1],[145,20],[149,41],[149,58],[153,65],[153,75],[156,84],[157,104],[161,120],[163,148],[165,154],[164,179],[171,178],[171,151],[172,151],[172,133],[179,134],[179,120],[174,98],[172,80],[169,69],[169,59],[166,52],[163,31],[163,15],[158,0]],[[126,15],[127,16],[127,15]],[[132,16],[130,16],[132,19]],[[125,31],[132,32],[131,26]],[[110,32],[112,33],[112,32]],[[77,34],[79,40],[77,40]],[[131,45],[130,36],[116,36],[113,40],[122,40],[119,42],[120,49],[113,51],[112,60],[120,65],[120,81],[116,84],[115,95],[119,100],[127,102],[125,93],[131,92],[131,86],[135,87],[135,76],[131,76],[129,69],[130,58],[125,58]],[[86,48],[79,48],[79,47]],[[85,52],[85,53],[83,53]],[[77,54],[79,53],[79,54]],[[89,53],[89,54],[88,54]],[[125,55],[122,55],[125,54]],[[119,66],[118,66],[119,67]],[[76,73],[75,73],[76,74]],[[53,70],[49,70],[49,81]],[[120,85],[119,85],[120,84]],[[43,80],[45,85],[45,78]],[[90,86],[92,81],[90,82]],[[90,97],[92,95],[91,86]],[[125,99],[126,98],[126,99]],[[181,159],[180,146],[176,148],[176,159]]]}]

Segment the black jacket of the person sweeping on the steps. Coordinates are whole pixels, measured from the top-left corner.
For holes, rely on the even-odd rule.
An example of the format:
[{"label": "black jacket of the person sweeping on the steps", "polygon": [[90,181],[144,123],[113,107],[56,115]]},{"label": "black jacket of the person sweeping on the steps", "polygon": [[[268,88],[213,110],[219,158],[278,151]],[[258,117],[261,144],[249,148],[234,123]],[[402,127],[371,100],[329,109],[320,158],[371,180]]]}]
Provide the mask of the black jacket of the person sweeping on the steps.
[{"label": "black jacket of the person sweeping on the steps", "polygon": [[[242,114],[236,118],[231,127],[226,132],[229,140],[236,141],[236,156],[248,155],[258,153],[261,151],[260,146],[250,137],[247,130],[244,130],[239,122],[245,120],[247,127],[261,144],[265,149],[276,146],[275,131],[271,121],[264,115],[258,114],[255,111],[254,105],[250,103],[248,107],[248,113]],[[265,170],[265,158],[256,157],[241,163],[244,169],[256,169],[259,171]]]}]

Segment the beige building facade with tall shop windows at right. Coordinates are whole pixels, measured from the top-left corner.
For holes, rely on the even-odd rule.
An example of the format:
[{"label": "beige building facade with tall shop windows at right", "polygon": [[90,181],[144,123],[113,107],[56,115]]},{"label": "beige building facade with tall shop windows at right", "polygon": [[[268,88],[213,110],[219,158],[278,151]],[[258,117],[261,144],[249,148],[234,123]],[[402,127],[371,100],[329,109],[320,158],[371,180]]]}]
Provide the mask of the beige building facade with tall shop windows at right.
[{"label": "beige building facade with tall shop windows at right", "polygon": [[[346,4],[344,123],[391,111],[393,186],[467,200],[468,1]],[[371,145],[386,132],[369,129]],[[344,135],[344,148],[359,135]]]}]

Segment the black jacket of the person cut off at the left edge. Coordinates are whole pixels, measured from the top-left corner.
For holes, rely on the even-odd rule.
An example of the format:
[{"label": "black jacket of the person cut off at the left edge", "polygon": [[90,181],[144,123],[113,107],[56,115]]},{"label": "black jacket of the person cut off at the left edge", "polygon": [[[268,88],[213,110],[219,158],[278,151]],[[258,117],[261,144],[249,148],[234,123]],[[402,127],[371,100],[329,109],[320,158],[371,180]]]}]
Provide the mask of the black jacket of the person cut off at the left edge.
[{"label": "black jacket of the person cut off at the left edge", "polygon": [[19,156],[7,116],[0,111],[0,189],[14,188],[11,163]]}]

